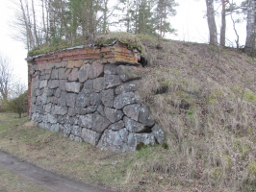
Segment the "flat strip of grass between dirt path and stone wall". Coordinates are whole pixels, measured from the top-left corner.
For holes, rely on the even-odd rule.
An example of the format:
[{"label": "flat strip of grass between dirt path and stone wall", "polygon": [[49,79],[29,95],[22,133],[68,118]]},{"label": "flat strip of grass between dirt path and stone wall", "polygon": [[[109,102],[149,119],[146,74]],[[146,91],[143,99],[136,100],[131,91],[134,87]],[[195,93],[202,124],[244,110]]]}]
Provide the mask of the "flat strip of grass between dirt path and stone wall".
[{"label": "flat strip of grass between dirt path and stone wall", "polygon": [[3,113],[0,118],[4,122],[1,125],[6,125],[0,127],[0,150],[67,177],[121,191],[191,191],[193,188],[173,181],[167,170],[158,169],[163,167],[160,160],[166,157],[166,150],[161,146],[137,153],[113,154],[38,129],[26,118],[17,122],[10,114]]}]

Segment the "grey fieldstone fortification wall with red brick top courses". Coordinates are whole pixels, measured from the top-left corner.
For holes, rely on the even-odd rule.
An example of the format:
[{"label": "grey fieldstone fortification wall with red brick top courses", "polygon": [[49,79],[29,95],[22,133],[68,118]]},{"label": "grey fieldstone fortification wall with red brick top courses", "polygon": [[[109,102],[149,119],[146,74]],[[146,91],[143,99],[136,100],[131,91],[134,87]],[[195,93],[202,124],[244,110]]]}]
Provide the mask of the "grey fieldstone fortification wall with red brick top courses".
[{"label": "grey fieldstone fortification wall with red brick top courses", "polygon": [[28,59],[29,115],[38,127],[102,150],[135,151],[165,134],[141,103],[141,54],[120,42]]}]

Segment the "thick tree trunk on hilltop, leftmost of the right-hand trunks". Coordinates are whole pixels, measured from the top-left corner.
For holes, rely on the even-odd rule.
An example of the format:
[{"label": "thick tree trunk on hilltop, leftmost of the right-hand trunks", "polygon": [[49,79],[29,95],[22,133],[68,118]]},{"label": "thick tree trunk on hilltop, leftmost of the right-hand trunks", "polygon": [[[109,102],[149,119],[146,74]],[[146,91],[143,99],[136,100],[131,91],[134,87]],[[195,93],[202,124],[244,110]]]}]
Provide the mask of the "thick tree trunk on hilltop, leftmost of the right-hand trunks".
[{"label": "thick tree trunk on hilltop, leftmost of the right-hand trunks", "polygon": [[205,0],[207,7],[207,22],[210,33],[210,45],[217,46],[218,38],[217,38],[217,27],[215,20],[215,9],[214,9],[214,0]]}]

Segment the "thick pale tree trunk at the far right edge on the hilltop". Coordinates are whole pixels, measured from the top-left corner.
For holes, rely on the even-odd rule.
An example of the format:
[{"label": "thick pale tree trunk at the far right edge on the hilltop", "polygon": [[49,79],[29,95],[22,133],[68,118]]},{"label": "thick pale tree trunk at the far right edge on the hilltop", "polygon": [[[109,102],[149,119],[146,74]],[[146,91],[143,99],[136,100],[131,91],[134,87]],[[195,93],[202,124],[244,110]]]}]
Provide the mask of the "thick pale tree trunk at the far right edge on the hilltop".
[{"label": "thick pale tree trunk at the far right edge on the hilltop", "polygon": [[255,57],[256,46],[256,2],[255,0],[248,0],[247,10],[247,26],[246,26],[246,41],[244,52],[249,56]]}]

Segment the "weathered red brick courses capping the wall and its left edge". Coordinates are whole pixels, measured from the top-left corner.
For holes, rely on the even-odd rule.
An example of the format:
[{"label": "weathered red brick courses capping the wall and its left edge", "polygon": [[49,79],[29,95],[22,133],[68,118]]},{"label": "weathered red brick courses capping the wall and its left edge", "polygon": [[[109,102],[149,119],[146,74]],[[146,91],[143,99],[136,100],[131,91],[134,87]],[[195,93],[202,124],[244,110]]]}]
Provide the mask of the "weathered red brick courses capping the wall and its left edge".
[{"label": "weathered red brick courses capping the wall and its left edge", "polygon": [[31,85],[33,79],[30,70],[33,65],[38,64],[38,70],[41,71],[47,69],[47,66],[49,66],[50,63],[67,61],[67,68],[73,68],[81,67],[83,65],[83,60],[103,60],[104,62],[110,63],[122,61],[140,64],[138,61],[141,60],[141,53],[136,49],[128,49],[127,45],[124,43],[117,42],[115,45],[106,47],[85,47],[48,53],[30,60],[28,68],[28,115],[31,108]]}]

